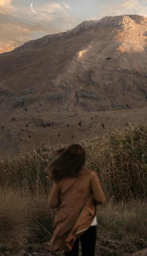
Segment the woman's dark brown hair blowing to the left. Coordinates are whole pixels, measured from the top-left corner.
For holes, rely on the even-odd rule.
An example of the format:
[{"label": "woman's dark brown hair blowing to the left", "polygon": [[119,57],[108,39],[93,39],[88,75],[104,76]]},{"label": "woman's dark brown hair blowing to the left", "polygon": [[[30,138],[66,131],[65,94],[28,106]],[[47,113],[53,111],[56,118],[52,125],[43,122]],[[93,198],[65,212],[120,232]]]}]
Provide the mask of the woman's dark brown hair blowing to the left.
[{"label": "woman's dark brown hair blowing to the left", "polygon": [[54,159],[45,172],[51,172],[51,179],[55,182],[66,177],[78,177],[86,161],[85,149],[79,144],[72,144],[66,148],[58,149],[52,156],[60,156]]}]

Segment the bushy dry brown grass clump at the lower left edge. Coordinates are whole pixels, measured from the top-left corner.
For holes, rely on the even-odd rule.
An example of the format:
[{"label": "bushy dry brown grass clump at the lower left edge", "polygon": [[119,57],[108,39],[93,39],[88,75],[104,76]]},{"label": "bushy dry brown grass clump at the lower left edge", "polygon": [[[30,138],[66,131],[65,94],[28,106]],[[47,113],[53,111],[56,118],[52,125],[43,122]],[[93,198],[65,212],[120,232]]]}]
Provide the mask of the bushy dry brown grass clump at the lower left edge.
[{"label": "bushy dry brown grass clump at the lower left edge", "polygon": [[9,246],[27,243],[33,236],[31,198],[12,189],[0,191],[0,241]]}]

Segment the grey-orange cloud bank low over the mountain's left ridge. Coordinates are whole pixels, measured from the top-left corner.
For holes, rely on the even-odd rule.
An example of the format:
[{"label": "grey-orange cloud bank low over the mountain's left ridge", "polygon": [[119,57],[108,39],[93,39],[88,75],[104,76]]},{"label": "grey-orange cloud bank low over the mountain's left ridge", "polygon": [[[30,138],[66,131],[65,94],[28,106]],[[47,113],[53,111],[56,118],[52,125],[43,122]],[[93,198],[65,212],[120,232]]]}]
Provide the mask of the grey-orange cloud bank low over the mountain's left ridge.
[{"label": "grey-orange cloud bank low over the mountain's left ridge", "polygon": [[26,23],[28,20],[18,21],[17,17],[9,19],[6,15],[1,14],[0,18],[0,53],[12,51],[16,47],[24,44],[29,40],[43,37],[47,34],[63,32],[59,27],[45,27],[40,23]]}]

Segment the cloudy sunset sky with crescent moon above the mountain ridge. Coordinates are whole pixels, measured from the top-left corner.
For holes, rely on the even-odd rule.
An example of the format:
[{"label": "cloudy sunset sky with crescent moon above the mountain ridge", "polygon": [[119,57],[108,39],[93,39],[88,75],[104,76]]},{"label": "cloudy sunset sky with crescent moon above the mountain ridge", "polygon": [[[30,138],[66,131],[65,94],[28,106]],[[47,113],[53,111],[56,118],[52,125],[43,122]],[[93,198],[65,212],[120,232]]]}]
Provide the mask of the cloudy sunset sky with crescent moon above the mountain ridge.
[{"label": "cloudy sunset sky with crescent moon above the mountain ridge", "polygon": [[[65,32],[82,21],[105,16],[147,16],[147,0],[0,0],[0,53],[48,34]],[[66,2],[64,2],[66,1]]]}]

